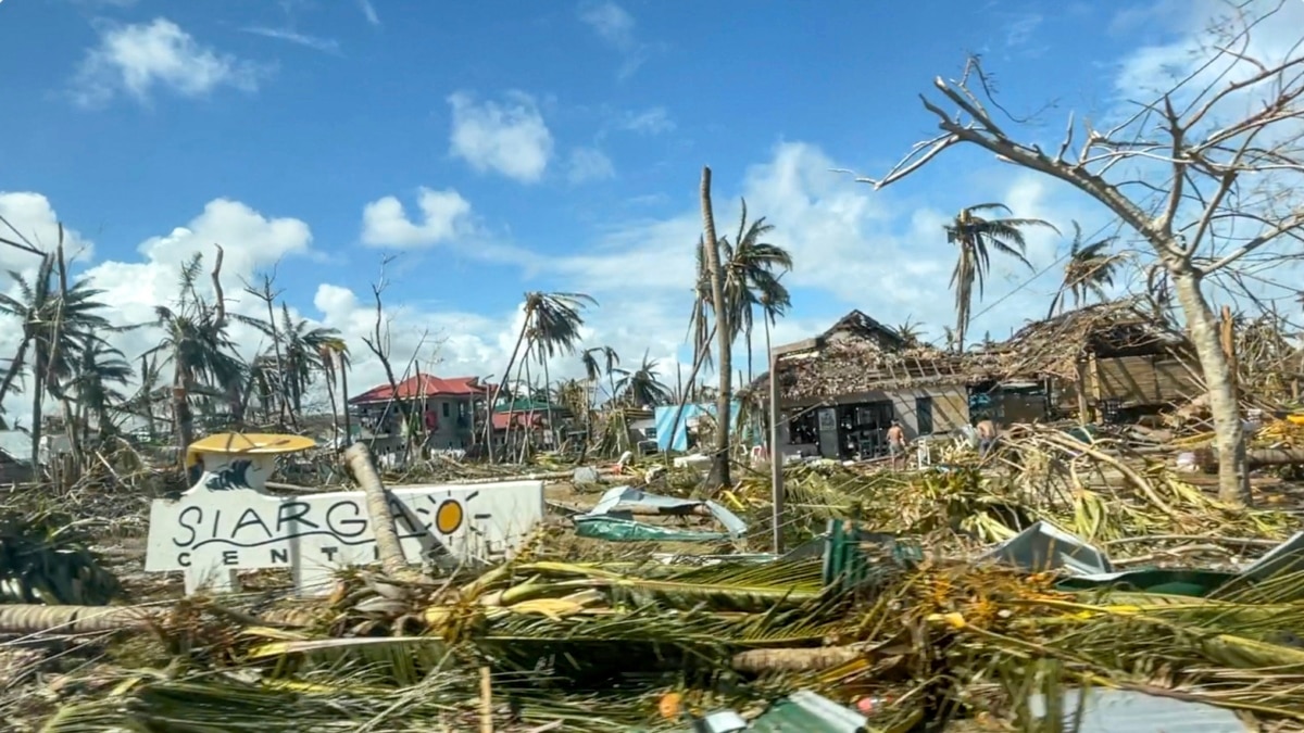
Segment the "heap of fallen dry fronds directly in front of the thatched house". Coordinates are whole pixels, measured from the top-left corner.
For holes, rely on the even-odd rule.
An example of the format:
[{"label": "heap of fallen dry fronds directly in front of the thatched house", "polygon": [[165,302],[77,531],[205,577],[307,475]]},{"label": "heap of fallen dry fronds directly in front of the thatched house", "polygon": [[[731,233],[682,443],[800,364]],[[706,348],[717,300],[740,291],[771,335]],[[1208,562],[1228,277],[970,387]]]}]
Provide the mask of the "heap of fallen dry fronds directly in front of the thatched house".
[{"label": "heap of fallen dry fronds directly in front of the thatched house", "polygon": [[[985,471],[974,453],[917,472],[831,463],[789,468],[785,539],[793,546],[818,536],[829,519],[854,518],[955,553],[1008,540],[1045,519],[1090,543],[1127,539],[1142,553],[1172,546],[1136,541],[1145,536],[1281,541],[1300,527],[1287,511],[1224,506],[1162,456],[1131,454],[1112,438],[1084,442],[1021,426],[1005,437],[996,462],[1011,470]],[[771,531],[768,496],[765,477],[747,476],[724,498],[747,514],[760,537]]]}]

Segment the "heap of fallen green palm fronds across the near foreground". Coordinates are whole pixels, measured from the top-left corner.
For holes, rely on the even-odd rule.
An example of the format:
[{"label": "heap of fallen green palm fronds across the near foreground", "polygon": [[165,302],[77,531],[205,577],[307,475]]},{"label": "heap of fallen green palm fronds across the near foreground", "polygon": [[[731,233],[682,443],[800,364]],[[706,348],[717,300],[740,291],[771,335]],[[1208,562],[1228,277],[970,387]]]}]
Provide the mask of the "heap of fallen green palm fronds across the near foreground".
[{"label": "heap of fallen green palm fronds across the near foreground", "polygon": [[276,730],[289,720],[322,730],[467,729],[482,666],[507,703],[494,712],[499,730],[554,720],[566,730],[648,730],[668,690],[700,712],[799,687],[893,700],[875,716],[889,728],[1008,717],[1018,715],[1018,690],[1056,686],[1304,719],[1304,644],[1292,631],[1304,627],[1304,604],[1290,600],[1304,575],[1200,599],[1068,592],[1051,574],[926,560],[885,569],[872,593],[853,595],[824,588],[818,569],[579,563],[540,549],[438,584],[351,574],[300,629],[197,605],[203,625],[180,613],[151,626],[171,659],[186,650],[180,674],[137,674],[64,706],[47,730],[95,721]]}]

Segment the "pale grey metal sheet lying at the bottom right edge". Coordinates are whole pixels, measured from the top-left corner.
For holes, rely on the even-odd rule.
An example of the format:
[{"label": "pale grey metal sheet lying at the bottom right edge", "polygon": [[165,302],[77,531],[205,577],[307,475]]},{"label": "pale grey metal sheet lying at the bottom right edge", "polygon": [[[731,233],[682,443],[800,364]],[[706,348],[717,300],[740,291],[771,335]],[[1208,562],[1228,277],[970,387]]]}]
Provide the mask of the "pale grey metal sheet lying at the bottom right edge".
[{"label": "pale grey metal sheet lying at the bottom right edge", "polygon": [[[1081,690],[1064,693],[1063,710],[1067,724],[1072,724],[1081,699]],[[1034,716],[1046,716],[1045,695],[1031,695],[1028,706]],[[1088,690],[1082,724],[1077,730],[1078,733],[1247,733],[1251,728],[1230,710],[1204,703],[1132,690],[1091,689]]]}]

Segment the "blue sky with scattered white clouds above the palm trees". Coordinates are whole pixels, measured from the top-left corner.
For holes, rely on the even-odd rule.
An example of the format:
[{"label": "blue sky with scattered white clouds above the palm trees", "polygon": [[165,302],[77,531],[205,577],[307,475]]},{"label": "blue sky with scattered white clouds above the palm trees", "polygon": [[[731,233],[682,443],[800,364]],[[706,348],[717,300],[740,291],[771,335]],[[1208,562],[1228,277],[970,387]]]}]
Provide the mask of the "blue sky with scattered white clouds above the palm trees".
[{"label": "blue sky with scattered white clouds above the palm trees", "polygon": [[[1054,104],[1033,134],[1058,134],[1071,110],[1106,116],[1120,80],[1162,76],[1153,59],[1209,8],[8,0],[0,213],[46,244],[64,222],[125,321],[172,297],[176,265],[214,241],[228,295],[275,266],[299,313],[351,339],[359,386],[379,378],[360,335],[386,256],[400,361],[429,331],[420,353],[436,372],[498,373],[522,293],[565,290],[601,303],[589,346],[626,363],[647,350],[673,372],[687,360],[709,164],[721,228],[746,194],[793,250],[795,308],[777,340],[852,308],[938,334],[952,320],[941,223],[958,207],[1004,201],[1065,231],[1106,219],[966,150],[878,193],[829,168],[882,173],[930,136],[917,95],[968,52],[985,55],[1012,111]],[[1038,236],[1030,257],[1047,266],[1065,248]],[[23,257],[0,252],[0,263],[23,269]],[[987,304],[1025,280],[999,266]],[[1052,291],[1051,277],[1024,287],[973,333],[1008,334]],[[12,340],[0,333],[0,352]]]}]

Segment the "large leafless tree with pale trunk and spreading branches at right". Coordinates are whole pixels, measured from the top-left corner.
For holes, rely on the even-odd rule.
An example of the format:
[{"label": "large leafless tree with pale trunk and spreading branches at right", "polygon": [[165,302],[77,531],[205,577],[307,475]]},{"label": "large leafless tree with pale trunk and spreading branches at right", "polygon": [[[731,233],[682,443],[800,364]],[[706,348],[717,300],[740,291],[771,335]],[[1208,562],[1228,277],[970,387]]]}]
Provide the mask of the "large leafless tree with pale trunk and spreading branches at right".
[{"label": "large leafless tree with pale trunk and spreading branches at right", "polygon": [[1171,283],[1200,357],[1218,441],[1219,496],[1247,503],[1236,385],[1209,283],[1237,269],[1281,263],[1292,256],[1282,245],[1299,257],[1304,40],[1277,50],[1254,42],[1265,23],[1296,10],[1286,0],[1228,3],[1227,9],[1210,23],[1185,76],[1107,129],[1071,113],[1052,150],[1020,141],[998,121],[1021,124],[1000,107],[979,60],[970,59],[961,78],[934,82],[940,99],[921,95],[941,133],[917,143],[884,177],[858,180],[883,188],[968,143],[1064,181],[1119,218]]}]

